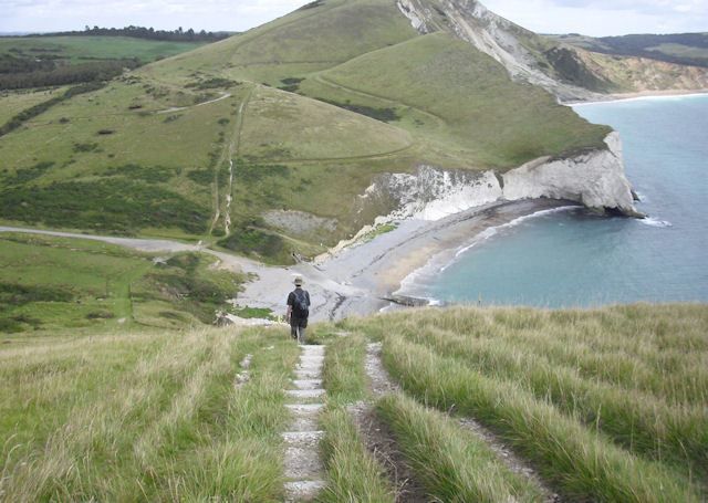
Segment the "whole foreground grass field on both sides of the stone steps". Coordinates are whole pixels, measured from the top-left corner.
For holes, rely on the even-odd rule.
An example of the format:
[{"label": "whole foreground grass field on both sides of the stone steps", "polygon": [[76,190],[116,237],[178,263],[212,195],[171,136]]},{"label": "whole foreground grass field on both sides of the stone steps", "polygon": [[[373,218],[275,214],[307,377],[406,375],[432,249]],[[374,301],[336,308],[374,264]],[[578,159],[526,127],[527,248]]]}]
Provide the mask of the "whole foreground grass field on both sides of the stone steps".
[{"label": "whole foreground grass field on both sides of the stone steps", "polygon": [[[708,494],[705,305],[416,310],[310,334],[326,345],[319,501],[396,501],[402,468],[426,501]],[[372,342],[400,391],[373,395]],[[247,354],[251,378],[235,387]],[[282,501],[298,355],[281,328],[8,338],[0,500]],[[369,450],[352,407],[377,418],[399,459]]]}]

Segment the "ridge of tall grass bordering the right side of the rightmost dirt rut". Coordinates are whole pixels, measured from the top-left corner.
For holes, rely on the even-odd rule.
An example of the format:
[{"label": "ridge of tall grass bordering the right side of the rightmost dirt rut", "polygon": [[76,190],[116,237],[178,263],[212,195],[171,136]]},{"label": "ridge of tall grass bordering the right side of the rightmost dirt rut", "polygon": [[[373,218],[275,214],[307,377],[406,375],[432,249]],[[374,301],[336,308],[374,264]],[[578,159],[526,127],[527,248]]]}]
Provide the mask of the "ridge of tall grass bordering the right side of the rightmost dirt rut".
[{"label": "ridge of tall grass bordering the right side of the rightmost dirt rut", "polygon": [[685,479],[615,447],[521,386],[488,378],[395,336],[386,338],[384,361],[405,390],[420,400],[471,413],[494,429],[569,499],[700,500]]}]

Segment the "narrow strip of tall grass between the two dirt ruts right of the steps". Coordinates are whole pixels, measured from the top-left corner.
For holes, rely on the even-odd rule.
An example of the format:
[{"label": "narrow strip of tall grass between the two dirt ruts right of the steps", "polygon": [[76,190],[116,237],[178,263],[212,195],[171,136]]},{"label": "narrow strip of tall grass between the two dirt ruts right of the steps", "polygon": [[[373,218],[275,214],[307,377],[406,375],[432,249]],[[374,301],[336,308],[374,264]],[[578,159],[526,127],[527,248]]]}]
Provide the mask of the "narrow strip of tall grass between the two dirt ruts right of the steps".
[{"label": "narrow strip of tall grass between the two dirt ruts right of the steps", "polygon": [[388,395],[377,410],[392,427],[403,454],[436,501],[541,501],[528,479],[512,473],[487,443],[444,415],[402,394]]}]

